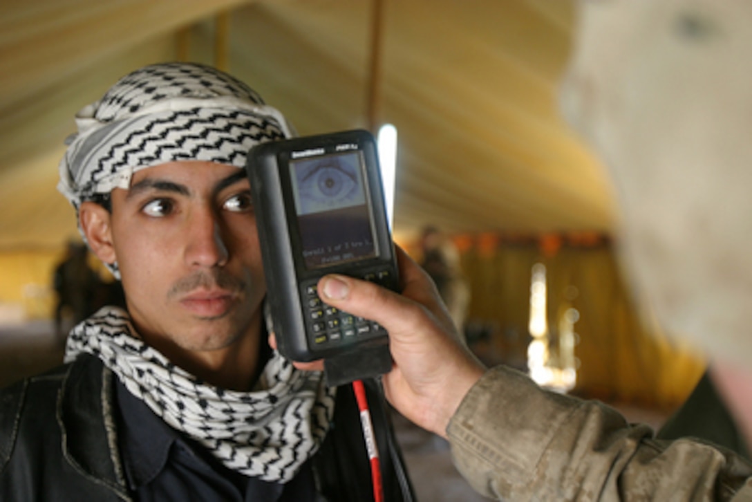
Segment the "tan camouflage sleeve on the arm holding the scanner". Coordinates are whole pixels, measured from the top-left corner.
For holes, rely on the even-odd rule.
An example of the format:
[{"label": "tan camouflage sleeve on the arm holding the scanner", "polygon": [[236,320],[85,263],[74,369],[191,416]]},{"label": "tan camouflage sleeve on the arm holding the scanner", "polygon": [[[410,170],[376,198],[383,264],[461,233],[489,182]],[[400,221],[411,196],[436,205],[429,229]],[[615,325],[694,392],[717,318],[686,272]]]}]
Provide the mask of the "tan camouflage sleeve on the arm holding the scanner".
[{"label": "tan camouflage sleeve on the arm holding the scanner", "polygon": [[447,436],[462,476],[498,500],[752,500],[752,465],[734,453],[653,440],[615,409],[505,367],[471,389]]}]

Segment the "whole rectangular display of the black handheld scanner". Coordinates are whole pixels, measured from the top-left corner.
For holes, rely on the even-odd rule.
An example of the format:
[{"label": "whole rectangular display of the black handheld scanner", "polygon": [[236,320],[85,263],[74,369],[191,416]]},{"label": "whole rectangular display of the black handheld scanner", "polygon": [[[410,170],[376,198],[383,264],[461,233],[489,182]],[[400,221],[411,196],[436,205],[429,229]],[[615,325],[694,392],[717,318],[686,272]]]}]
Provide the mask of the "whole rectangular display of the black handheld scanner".
[{"label": "whole rectangular display of the black handheld scanner", "polygon": [[308,269],[374,257],[360,151],[290,163],[303,262]]}]

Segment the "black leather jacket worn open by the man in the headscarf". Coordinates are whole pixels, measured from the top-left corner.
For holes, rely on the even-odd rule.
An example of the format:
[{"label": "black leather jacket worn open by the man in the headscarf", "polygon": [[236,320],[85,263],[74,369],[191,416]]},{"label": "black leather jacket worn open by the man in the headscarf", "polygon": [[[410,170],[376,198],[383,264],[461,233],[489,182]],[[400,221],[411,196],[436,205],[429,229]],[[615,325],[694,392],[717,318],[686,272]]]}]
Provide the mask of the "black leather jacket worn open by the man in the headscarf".
[{"label": "black leather jacket worn open by the man in the headscarf", "polygon": [[[113,414],[113,373],[98,358],[0,391],[0,500],[132,500]],[[385,500],[414,500],[388,410],[365,382],[381,457]],[[334,424],[314,456],[326,500],[372,500],[368,455],[349,386],[338,389]]]}]

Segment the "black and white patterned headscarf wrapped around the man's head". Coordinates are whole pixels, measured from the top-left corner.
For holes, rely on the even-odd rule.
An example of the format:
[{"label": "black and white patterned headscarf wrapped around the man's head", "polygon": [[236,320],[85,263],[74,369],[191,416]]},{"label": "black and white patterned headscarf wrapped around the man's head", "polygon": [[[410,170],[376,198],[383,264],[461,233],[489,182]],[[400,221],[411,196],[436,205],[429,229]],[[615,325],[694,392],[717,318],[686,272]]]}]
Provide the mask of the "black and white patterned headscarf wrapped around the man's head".
[{"label": "black and white patterned headscarf wrapped around the man's head", "polygon": [[[81,202],[128,189],[134,172],[180,160],[243,168],[253,145],[289,138],[287,120],[238,79],[196,63],[145,66],[76,114],[58,190]],[[117,265],[110,266],[118,276]]]}]

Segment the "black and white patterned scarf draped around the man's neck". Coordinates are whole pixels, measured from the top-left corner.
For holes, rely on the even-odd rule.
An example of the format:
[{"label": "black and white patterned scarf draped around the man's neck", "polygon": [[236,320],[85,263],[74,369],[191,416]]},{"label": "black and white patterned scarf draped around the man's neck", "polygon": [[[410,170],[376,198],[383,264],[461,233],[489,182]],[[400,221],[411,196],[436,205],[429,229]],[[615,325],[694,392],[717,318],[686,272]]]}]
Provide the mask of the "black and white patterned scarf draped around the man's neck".
[{"label": "black and white patterned scarf draped around the man's neck", "polygon": [[99,357],[165,423],[246,476],[290,481],[332,420],[335,390],[277,351],[252,392],[217,388],[142,342],[125,311],[105,307],[68,336],[65,361],[82,352]]}]

